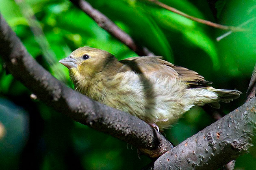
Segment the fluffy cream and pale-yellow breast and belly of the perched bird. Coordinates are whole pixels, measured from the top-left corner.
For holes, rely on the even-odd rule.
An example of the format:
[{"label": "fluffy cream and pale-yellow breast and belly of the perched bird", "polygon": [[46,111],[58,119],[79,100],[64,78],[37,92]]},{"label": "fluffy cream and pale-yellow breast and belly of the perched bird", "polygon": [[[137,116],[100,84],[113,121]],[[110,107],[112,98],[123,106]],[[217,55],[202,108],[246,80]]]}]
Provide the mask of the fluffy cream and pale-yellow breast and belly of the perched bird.
[{"label": "fluffy cream and pale-yellow breast and belly of the perched bird", "polygon": [[[176,120],[187,111],[187,86],[165,76],[155,77],[132,71],[111,77],[84,80],[80,92],[110,107],[128,112],[148,123]],[[192,107],[189,106],[189,107]]]}]

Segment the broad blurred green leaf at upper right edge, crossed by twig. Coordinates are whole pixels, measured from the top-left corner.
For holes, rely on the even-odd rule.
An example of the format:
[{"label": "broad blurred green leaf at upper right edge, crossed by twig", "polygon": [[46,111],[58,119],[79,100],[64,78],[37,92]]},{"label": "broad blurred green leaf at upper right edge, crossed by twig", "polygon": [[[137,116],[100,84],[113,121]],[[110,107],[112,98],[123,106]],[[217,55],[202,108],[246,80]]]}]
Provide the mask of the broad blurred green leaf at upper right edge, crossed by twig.
[{"label": "broad blurred green leaf at upper right edge, crossed by twig", "polygon": [[[247,30],[232,32],[228,37],[219,41],[221,55],[225,56],[226,62],[233,61],[234,63],[224,68],[224,71],[232,76],[250,77],[256,63],[256,19],[254,19],[256,10],[253,10],[252,6],[255,6],[255,1],[252,0],[227,1],[223,9],[225,13],[221,15],[221,24],[238,26],[244,23],[243,28]],[[225,32],[219,31],[218,35],[223,33]]]}]

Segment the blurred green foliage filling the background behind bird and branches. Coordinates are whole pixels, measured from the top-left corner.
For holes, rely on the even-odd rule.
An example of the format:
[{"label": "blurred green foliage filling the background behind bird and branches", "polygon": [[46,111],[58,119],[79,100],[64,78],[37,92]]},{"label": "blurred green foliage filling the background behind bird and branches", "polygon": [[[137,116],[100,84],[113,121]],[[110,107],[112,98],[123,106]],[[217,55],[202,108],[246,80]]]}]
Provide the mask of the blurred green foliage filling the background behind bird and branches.
[{"label": "blurred green foliage filling the background behind bird and branches", "polygon": [[[30,30],[28,20],[20,11],[20,5],[14,0],[0,0],[0,12],[28,52],[53,75],[58,77],[58,74],[63,74],[66,79],[64,81],[70,87],[72,83],[68,71],[57,61],[80,46],[104,49],[120,60],[137,56],[67,0],[25,2],[33,10],[43,30],[43,38],[49,44],[49,54],[54,53],[53,63],[49,63],[49,56],[43,53],[38,37]],[[243,95],[240,99],[229,104],[222,103],[221,109],[225,113],[243,104],[256,62],[255,20],[243,26],[246,31],[233,32],[217,42],[216,37],[227,31],[193,22],[146,0],[88,2],[154,54],[197,71],[206,80],[213,81],[216,88],[241,90]],[[201,0],[161,2],[189,15],[223,25],[239,26],[256,17],[254,0],[215,0],[210,4]],[[0,123],[6,129],[6,135],[0,138],[0,160],[6,160],[6,164],[0,164],[0,169],[29,166],[41,170],[139,169],[150,162],[144,156],[140,160],[136,148],[131,150],[131,146],[128,146],[128,150],[125,142],[76,123],[40,101],[32,101],[29,97],[31,92],[12,75],[7,75],[4,63],[0,63],[0,97],[5,98],[0,100]],[[15,109],[20,107],[22,109]],[[17,114],[15,119],[14,114]],[[19,130],[7,125],[10,119],[15,120],[11,122],[12,127]],[[202,108],[195,107],[165,133],[177,145],[213,122],[213,118]],[[24,128],[28,123],[29,128]],[[17,133],[20,133],[20,137]],[[20,140],[8,140],[15,136]],[[254,150],[239,157],[236,168],[253,169],[256,164]]]}]

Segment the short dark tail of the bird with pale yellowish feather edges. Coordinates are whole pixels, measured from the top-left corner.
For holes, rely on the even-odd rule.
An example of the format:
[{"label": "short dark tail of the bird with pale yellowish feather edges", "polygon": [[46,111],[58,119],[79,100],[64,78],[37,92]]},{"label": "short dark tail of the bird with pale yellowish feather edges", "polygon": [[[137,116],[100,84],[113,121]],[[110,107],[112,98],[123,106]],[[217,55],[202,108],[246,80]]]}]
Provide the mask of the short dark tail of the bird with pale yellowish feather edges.
[{"label": "short dark tail of the bird with pale yellowish feather edges", "polygon": [[239,98],[239,96],[242,94],[242,92],[238,90],[224,90],[224,89],[216,89],[213,87],[207,87],[207,90],[213,91],[218,95],[216,102],[208,103],[213,108],[220,108],[218,101],[229,103],[230,101],[233,101],[234,99]]}]

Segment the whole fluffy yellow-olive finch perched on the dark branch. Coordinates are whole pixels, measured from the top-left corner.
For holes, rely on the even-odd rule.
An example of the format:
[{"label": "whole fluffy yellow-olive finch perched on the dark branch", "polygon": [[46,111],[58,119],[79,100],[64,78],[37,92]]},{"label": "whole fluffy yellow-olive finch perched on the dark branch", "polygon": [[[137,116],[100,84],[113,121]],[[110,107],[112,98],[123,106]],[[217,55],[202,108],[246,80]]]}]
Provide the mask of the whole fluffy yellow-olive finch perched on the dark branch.
[{"label": "whole fluffy yellow-olive finch perched on the dark branch", "polygon": [[213,88],[202,75],[161,56],[117,60],[109,52],[85,46],[59,62],[69,69],[75,90],[137,116],[157,131],[169,128],[193,106],[220,108],[219,101],[229,103],[241,94]]}]

